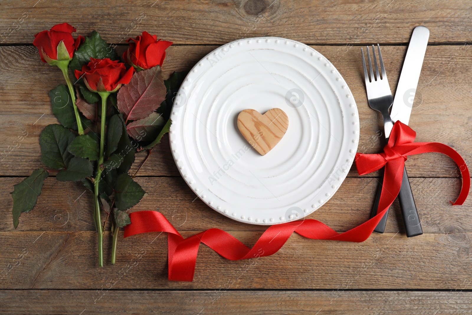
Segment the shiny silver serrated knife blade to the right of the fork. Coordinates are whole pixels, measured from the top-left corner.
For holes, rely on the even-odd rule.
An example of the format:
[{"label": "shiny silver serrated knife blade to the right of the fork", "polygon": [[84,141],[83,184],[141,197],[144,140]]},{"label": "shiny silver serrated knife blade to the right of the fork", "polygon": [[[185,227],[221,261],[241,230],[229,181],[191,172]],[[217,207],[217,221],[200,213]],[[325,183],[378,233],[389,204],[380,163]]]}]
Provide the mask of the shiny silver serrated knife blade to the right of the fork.
[{"label": "shiny silver serrated knife blade to the right of the fork", "polygon": [[424,54],[430,38],[430,30],[425,26],[416,26],[413,30],[402,72],[398,79],[395,98],[393,99],[391,119],[400,120],[408,125],[413,108],[414,95],[420,78]]}]

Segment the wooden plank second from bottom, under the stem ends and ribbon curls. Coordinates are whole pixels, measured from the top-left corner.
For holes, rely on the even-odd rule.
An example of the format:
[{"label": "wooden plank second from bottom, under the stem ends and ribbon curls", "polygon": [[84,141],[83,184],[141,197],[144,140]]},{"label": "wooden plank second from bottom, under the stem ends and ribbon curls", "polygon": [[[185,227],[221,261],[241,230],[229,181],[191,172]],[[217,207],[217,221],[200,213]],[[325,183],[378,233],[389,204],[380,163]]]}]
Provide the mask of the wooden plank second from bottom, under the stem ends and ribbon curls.
[{"label": "wooden plank second from bottom, under the stem ends and ribbon curls", "polygon": [[[248,246],[261,235],[230,233]],[[202,245],[193,282],[168,281],[165,235],[126,239],[122,235],[113,266],[109,265],[110,233],[104,235],[107,263],[100,268],[96,232],[1,232],[4,272],[0,288],[219,289],[230,283],[232,289],[340,289],[346,285],[349,289],[457,289],[472,277],[472,233],[409,239],[396,233],[374,233],[362,243],[311,240],[294,234],[278,253],[252,261],[229,261]],[[23,251],[27,254],[18,260]]]}]

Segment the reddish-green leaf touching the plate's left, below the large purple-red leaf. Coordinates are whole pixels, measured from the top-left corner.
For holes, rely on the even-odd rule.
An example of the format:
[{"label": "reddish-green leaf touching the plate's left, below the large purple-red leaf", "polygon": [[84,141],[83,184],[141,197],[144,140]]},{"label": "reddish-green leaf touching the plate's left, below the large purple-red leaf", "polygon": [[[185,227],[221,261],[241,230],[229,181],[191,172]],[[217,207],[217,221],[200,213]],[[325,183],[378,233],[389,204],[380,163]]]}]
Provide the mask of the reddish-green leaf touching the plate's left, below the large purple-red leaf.
[{"label": "reddish-green leaf touching the plate's left, below the large purple-red leaf", "polygon": [[137,141],[152,141],[165,123],[162,114],[153,111],[148,117],[129,123],[126,130]]}]

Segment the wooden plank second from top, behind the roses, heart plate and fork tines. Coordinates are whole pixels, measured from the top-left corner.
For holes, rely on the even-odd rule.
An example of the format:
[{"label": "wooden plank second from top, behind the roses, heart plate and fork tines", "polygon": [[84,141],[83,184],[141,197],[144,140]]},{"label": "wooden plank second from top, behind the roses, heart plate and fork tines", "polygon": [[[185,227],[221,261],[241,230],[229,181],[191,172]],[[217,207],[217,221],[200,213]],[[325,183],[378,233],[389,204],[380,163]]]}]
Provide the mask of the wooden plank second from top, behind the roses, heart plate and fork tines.
[{"label": "wooden plank second from top, behind the roses, heart plate and fork tines", "polygon": [[[174,71],[188,70],[216,46],[171,46],[164,63],[164,76]],[[359,48],[343,46],[314,46],[335,63],[349,83],[359,109],[361,134],[358,151],[376,153],[381,148],[381,120],[367,105],[359,61]],[[466,162],[472,160],[472,138],[469,130],[472,77],[472,49],[469,46],[429,46],[426,51],[418,92],[410,125],[417,132],[417,141],[437,141],[453,146]],[[119,47],[122,52],[124,47]],[[388,78],[395,92],[404,46],[385,46]],[[57,122],[51,112],[48,91],[63,83],[61,73],[41,62],[31,46],[0,47],[0,135],[5,139],[0,151],[8,153],[22,133],[28,132],[20,148],[8,153],[0,163],[1,175],[27,176],[40,167],[38,137],[45,125]],[[460,79],[457,79],[460,78]],[[28,82],[25,89],[24,82]],[[41,119],[40,119],[41,118]],[[38,120],[39,119],[39,120]],[[8,147],[10,146],[10,147]],[[5,151],[7,150],[7,151]],[[138,154],[142,161],[144,153]],[[137,165],[137,163],[136,163]],[[407,162],[411,177],[454,177],[457,169],[446,156],[439,153],[412,156]],[[179,175],[167,142],[155,150],[140,175]],[[351,170],[349,176],[356,176]],[[373,173],[370,176],[378,176]]]}]

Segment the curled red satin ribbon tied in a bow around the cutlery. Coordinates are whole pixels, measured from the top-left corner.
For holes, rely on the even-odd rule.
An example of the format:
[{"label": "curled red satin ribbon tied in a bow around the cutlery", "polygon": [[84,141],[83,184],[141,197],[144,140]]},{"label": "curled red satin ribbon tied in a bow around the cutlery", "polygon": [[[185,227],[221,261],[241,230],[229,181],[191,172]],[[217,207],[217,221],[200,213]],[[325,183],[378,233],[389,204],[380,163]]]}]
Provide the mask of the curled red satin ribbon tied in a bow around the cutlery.
[{"label": "curled red satin ribbon tied in a bow around the cutlery", "polygon": [[272,255],[287,242],[293,232],[305,238],[363,242],[372,234],[398,195],[406,157],[427,152],[444,153],[459,166],[462,173],[462,189],[455,203],[451,203],[453,205],[463,204],[470,188],[469,170],[464,159],[447,145],[437,142],[414,143],[415,136],[416,133],[413,129],[397,121],[383,153],[356,153],[356,166],[359,175],[371,173],[385,166],[383,189],[379,201],[379,209],[382,211],[370,220],[344,233],[337,233],[327,225],[313,219],[293,221],[270,226],[253,248],[249,248],[227,232],[219,229],[210,229],[189,238],[183,238],[162,213],[139,211],[130,214],[132,223],[125,227],[125,238],[147,232],[169,233],[170,281],[193,281],[198,247],[201,242],[230,260]]}]

